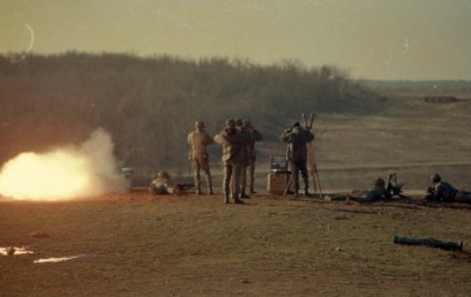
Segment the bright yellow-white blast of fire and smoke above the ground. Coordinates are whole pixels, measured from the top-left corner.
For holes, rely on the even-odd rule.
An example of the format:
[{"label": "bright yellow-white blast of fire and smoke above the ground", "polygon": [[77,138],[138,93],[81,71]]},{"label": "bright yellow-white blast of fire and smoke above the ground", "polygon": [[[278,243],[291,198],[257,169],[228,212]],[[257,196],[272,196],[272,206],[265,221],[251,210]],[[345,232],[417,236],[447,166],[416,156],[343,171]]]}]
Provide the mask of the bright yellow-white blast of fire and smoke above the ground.
[{"label": "bright yellow-white blast of fire and smoke above the ground", "polygon": [[12,199],[67,200],[126,191],[114,144],[96,129],[82,145],[50,152],[22,152],[0,171],[0,195]]}]

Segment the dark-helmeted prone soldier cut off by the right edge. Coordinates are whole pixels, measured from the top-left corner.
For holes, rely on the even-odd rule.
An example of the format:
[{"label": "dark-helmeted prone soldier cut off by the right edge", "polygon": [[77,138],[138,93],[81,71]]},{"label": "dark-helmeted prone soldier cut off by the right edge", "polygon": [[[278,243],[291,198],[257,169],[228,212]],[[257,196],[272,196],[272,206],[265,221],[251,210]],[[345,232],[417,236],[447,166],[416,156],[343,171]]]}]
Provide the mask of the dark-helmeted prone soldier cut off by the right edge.
[{"label": "dark-helmeted prone soldier cut off by the right edge", "polygon": [[427,187],[427,201],[471,203],[471,192],[458,190],[451,184],[442,181],[442,176],[430,176],[432,184]]}]

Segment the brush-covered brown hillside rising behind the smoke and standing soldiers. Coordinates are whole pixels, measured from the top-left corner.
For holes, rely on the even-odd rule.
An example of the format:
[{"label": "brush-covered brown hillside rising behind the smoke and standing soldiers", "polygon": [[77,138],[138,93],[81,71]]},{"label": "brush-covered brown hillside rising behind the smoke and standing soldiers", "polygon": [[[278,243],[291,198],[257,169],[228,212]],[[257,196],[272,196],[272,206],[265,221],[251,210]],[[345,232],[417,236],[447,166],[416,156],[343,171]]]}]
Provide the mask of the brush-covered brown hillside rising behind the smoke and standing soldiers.
[{"label": "brush-covered brown hillside rising behind the smoke and standing soldiers", "polygon": [[[215,134],[227,118],[250,119],[271,146],[300,113],[364,115],[387,106],[331,66],[77,52],[14,58],[0,56],[0,163],[23,151],[79,144],[102,127],[138,179],[163,168],[182,175],[185,137],[196,120]],[[212,147],[213,160],[219,154]],[[260,158],[268,154],[262,149]]]}]

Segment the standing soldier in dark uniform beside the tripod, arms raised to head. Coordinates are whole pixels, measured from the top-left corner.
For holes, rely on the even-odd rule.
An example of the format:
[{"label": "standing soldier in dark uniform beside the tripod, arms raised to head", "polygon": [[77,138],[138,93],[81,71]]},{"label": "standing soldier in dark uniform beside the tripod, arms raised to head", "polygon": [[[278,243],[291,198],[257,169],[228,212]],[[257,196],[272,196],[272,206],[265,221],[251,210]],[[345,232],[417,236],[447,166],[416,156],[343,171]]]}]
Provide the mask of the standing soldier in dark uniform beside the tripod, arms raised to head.
[{"label": "standing soldier in dark uniform beside the tripod, arms raised to head", "polygon": [[280,141],[288,144],[287,158],[294,180],[294,195],[299,195],[299,171],[304,182],[305,195],[309,195],[309,176],[307,173],[307,143],[314,140],[314,134],[294,123],[290,129],[283,131]]}]

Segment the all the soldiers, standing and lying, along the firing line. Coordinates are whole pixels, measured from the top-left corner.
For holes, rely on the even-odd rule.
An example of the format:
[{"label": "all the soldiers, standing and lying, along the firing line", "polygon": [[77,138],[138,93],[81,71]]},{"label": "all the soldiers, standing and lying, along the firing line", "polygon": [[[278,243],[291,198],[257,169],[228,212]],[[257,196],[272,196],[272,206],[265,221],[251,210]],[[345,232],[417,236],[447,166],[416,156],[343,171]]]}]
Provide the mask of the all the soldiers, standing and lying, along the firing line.
[{"label": "all the soldiers, standing and lying, along the firing line", "polygon": [[[255,143],[263,137],[257,129],[253,127],[251,121],[241,119],[228,119],[223,129],[215,136],[211,137],[205,130],[204,121],[195,122],[195,130],[187,137],[190,150],[188,160],[193,168],[194,186],[196,194],[203,194],[201,188],[201,171],[204,172],[208,194],[214,194],[212,187],[212,174],[210,170],[209,154],[207,146],[218,144],[222,148],[223,163],[223,184],[224,202],[230,203],[233,200],[237,204],[243,204],[243,199],[250,198],[251,193],[255,193]],[[279,140],[287,144],[287,160],[289,162],[292,175],[294,196],[299,196],[299,176],[304,185],[304,195],[309,193],[309,175],[307,170],[307,144],[315,139],[315,135],[310,129],[301,127],[299,122],[295,122],[290,128],[283,130]],[[396,175],[384,179],[375,180],[373,189],[366,191],[360,197],[337,196],[333,199],[355,199],[359,202],[370,202],[379,199],[390,199],[394,195],[403,197],[402,185],[397,184]],[[459,201],[471,202],[471,192],[455,189],[451,184],[442,181],[441,176],[435,174],[431,176],[432,184],[427,188],[426,199],[430,201]],[[172,190],[171,190],[172,189]],[[155,194],[175,191],[179,193],[185,191],[182,185],[172,185],[170,176],[166,172],[159,172],[158,176],[150,185],[150,191]]]}]

